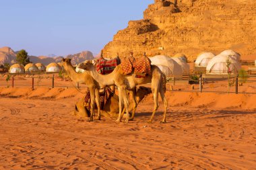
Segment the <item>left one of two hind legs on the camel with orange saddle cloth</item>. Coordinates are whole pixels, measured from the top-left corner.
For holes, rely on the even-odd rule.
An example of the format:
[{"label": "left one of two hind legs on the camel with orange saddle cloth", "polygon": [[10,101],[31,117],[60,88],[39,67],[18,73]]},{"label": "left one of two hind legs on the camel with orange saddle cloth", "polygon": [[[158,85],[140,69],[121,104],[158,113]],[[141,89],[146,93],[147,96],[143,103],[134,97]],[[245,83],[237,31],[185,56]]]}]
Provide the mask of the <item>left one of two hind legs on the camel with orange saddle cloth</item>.
[{"label": "left one of two hind legs on the camel with orange saddle cloth", "polygon": [[152,93],[154,95],[154,110],[153,113],[151,115],[150,120],[148,121],[148,123],[152,123],[152,120],[156,114],[156,111],[158,110],[159,107],[159,103],[158,103],[158,92],[159,92],[159,87],[160,87],[160,82],[158,80],[152,80]]}]

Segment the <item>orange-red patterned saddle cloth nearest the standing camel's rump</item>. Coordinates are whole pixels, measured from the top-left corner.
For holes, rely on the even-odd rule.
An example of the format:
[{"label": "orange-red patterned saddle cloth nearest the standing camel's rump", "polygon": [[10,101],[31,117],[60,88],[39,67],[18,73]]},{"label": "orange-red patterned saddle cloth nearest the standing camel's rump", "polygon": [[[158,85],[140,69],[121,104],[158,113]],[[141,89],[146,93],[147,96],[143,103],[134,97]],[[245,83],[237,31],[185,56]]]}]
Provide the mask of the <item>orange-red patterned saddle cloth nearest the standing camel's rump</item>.
[{"label": "orange-red patterned saddle cloth nearest the standing camel's rump", "polygon": [[135,77],[141,78],[151,75],[150,58],[143,56],[139,58],[124,58],[121,61],[121,68],[124,75],[129,75],[134,71]]}]

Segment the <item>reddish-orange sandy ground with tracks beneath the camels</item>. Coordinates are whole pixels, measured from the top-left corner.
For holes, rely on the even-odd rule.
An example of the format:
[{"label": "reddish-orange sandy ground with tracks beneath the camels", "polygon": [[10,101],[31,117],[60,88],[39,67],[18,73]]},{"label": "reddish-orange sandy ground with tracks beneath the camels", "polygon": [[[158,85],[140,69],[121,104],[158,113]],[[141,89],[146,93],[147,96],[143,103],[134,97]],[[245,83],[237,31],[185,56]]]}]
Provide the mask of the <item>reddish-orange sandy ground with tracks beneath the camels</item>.
[{"label": "reddish-orange sandy ground with tracks beneath the camels", "polygon": [[256,95],[166,92],[152,124],[152,95],[133,122],[71,115],[75,89],[0,88],[0,169],[255,169]]}]

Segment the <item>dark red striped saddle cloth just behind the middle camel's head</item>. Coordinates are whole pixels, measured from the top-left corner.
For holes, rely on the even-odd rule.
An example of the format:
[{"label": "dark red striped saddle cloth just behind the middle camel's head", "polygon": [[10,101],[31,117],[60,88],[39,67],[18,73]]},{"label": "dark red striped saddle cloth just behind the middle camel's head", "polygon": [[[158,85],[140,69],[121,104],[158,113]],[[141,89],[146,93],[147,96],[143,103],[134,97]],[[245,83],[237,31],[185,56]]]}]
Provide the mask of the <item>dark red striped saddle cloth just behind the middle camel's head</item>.
[{"label": "dark red striped saddle cloth just behind the middle camel's head", "polygon": [[98,73],[102,75],[107,75],[109,73],[112,73],[114,69],[121,63],[121,60],[119,57],[111,60],[106,60],[103,57],[100,57],[95,61],[96,61],[96,70],[98,71]]}]

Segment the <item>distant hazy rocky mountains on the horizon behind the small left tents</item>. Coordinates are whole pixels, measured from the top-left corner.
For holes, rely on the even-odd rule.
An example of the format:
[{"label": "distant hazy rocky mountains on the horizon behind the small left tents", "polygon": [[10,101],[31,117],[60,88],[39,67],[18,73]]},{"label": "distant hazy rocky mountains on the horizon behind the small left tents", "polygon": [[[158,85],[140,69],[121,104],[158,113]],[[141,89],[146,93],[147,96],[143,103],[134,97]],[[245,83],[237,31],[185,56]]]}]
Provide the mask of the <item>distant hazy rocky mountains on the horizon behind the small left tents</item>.
[{"label": "distant hazy rocky mountains on the horizon behind the small left tents", "polygon": [[[49,65],[51,62],[61,62],[63,56],[28,56],[30,61],[33,63],[41,62],[43,65]],[[94,58],[92,52],[83,51],[77,54],[69,54],[65,56],[65,58],[72,58],[73,65],[77,65],[79,62],[83,62],[84,60],[90,60]],[[5,62],[9,64],[16,63],[16,52],[14,52],[9,47],[0,48],[0,65],[3,65]]]}]

